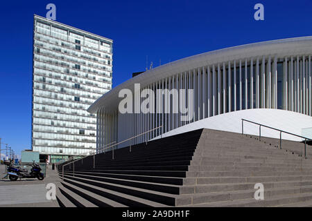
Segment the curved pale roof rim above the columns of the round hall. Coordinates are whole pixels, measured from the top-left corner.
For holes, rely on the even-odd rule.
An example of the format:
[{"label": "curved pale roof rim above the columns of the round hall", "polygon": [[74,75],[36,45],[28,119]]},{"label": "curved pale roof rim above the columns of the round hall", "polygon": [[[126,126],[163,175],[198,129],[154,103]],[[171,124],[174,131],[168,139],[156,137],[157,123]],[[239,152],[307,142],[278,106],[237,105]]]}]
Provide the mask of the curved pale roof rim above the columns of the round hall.
[{"label": "curved pale roof rim above the columns of the round hall", "polygon": [[309,55],[311,54],[311,51],[312,36],[263,41],[255,44],[246,44],[243,46],[205,52],[200,55],[194,55],[147,70],[145,73],[137,75],[137,77],[133,77],[128,81],[123,82],[123,84],[116,86],[108,93],[105,93],[105,95],[96,100],[87,111],[90,113],[96,113],[98,108],[102,107],[105,107],[105,110],[107,111],[116,110],[120,101],[118,98],[119,90],[122,88],[133,90],[134,84],[136,83],[139,83],[141,84],[141,87],[144,87],[159,79],[202,66],[246,58],[261,58],[268,55],[277,55],[277,57]]}]

